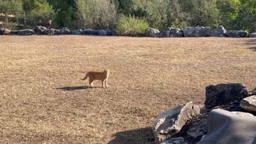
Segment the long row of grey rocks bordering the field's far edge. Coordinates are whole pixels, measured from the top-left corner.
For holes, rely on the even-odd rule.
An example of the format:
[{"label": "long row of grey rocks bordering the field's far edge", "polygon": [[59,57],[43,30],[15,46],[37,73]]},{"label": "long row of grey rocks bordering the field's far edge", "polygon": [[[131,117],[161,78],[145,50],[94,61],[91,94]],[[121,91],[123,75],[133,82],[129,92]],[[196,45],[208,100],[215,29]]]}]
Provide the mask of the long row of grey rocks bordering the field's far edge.
[{"label": "long row of grey rocks bordering the field's far edge", "polygon": [[[32,30],[8,30],[0,29],[0,35],[3,34],[18,34],[18,35],[31,35],[31,34],[44,34],[44,35],[58,35],[58,34],[74,34],[74,35],[99,35],[110,36],[114,35],[112,30],[92,30],[92,29],[79,29],[70,30],[67,27],[63,27],[60,30],[51,28],[51,23],[44,25],[38,25]],[[19,32],[21,31],[21,32]],[[26,32],[25,32],[26,31]],[[129,34],[125,34],[129,35]],[[146,30],[146,34],[131,34],[130,36],[146,36],[153,38],[182,38],[182,37],[230,37],[230,38],[256,38],[256,33],[248,34],[246,30],[226,30],[223,26],[211,27],[186,27],[184,30],[168,27],[163,32],[158,29],[149,27]]]}]

